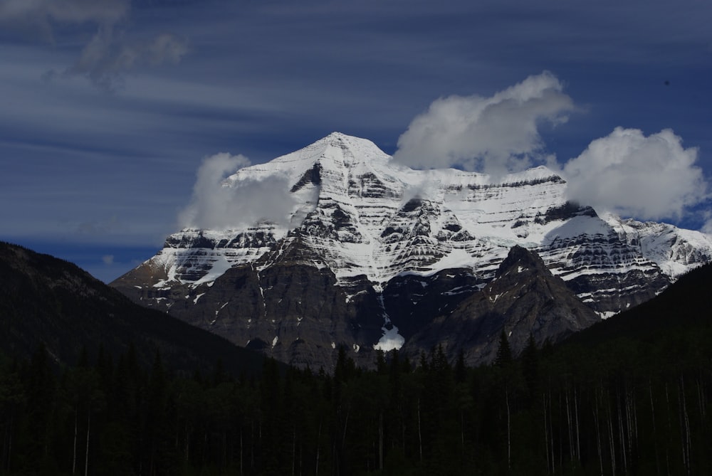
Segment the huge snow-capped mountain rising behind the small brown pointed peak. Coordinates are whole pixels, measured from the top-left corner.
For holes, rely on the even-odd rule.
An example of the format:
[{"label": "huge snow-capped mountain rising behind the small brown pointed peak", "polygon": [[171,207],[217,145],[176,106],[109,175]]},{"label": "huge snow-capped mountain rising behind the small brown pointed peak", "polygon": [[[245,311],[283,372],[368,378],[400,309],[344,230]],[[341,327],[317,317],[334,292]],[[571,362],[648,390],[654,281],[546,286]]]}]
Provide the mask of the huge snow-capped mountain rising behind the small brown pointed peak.
[{"label": "huge snow-capped mountain rising behind the small brown pointed peak", "polygon": [[[712,260],[711,236],[569,203],[566,182],[543,166],[500,179],[413,170],[366,139],[335,132],[240,169],[222,186],[239,193],[259,183],[288,189],[283,220],[186,228],[112,285],[238,344],[258,342],[306,364],[328,361],[338,344],[400,347],[491,282],[514,246],[539,255],[601,317]],[[284,287],[286,276],[293,280]],[[302,287],[316,277],[318,285]],[[307,342],[297,327],[310,319],[318,332]],[[295,351],[300,340],[308,351]]]}]

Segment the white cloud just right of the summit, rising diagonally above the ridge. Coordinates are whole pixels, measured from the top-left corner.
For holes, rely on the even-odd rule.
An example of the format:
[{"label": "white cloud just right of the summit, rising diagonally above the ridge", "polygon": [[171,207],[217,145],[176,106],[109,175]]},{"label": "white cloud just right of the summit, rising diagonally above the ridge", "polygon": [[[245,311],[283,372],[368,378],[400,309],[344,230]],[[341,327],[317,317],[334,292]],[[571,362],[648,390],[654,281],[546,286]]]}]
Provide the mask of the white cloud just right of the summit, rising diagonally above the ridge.
[{"label": "white cloud just right of the summit, rising diagonally above the ridge", "polygon": [[492,97],[440,98],[399,137],[394,159],[418,169],[461,166],[493,175],[525,169],[545,159],[540,122],[565,122],[575,110],[562,89],[545,71]]}]

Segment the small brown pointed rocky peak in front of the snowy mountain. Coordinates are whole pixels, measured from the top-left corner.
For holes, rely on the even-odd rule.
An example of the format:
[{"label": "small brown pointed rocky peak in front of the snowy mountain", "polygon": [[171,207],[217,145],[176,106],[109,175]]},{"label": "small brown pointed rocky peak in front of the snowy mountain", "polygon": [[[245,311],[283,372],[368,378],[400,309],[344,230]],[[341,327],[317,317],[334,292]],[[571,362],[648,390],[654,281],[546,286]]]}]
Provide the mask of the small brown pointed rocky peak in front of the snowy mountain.
[{"label": "small brown pointed rocky peak in front of the snowy mountain", "polygon": [[496,358],[502,332],[518,355],[530,335],[538,346],[560,342],[600,320],[536,253],[515,246],[491,282],[426,325],[402,352],[417,357],[442,346],[451,362],[462,354],[468,365],[489,364]]}]

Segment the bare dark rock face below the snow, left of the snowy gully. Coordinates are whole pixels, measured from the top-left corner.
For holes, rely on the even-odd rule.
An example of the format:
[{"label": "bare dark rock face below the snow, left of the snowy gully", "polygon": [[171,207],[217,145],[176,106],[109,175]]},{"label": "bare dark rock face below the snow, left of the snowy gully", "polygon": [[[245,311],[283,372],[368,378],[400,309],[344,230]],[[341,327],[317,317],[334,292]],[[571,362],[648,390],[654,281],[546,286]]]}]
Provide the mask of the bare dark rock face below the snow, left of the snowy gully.
[{"label": "bare dark rock face below the snow, left of the snowy gully", "polygon": [[[112,286],[140,305],[155,295],[165,296],[173,303],[167,312],[177,319],[278,361],[302,368],[323,366],[331,372],[335,343],[375,342],[383,319],[372,286],[363,282],[351,291],[358,295],[347,300],[331,270],[302,264],[309,252],[295,240],[273,252],[280,255],[278,265],[258,269],[273,254],[267,253],[256,265],[230,268],[214,282],[197,287],[137,290],[123,278]],[[184,300],[184,295],[194,298]],[[372,365],[372,349],[364,346],[361,352],[353,348],[352,352],[360,365]]]}]

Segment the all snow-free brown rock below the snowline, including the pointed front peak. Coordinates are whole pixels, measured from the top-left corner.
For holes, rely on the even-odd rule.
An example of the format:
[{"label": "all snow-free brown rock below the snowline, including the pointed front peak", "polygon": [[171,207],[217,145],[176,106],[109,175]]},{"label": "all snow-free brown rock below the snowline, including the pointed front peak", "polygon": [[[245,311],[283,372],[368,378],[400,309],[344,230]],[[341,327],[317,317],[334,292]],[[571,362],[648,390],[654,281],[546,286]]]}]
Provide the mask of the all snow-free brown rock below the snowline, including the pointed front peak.
[{"label": "all snow-free brown rock below the snowline, including the pointed front peak", "polygon": [[[350,348],[357,365],[373,365],[375,352],[367,342],[376,342],[382,332],[384,309],[405,339],[405,355],[417,359],[441,344],[451,361],[464,352],[468,365],[493,361],[503,329],[518,354],[530,333],[538,344],[558,342],[600,321],[534,251],[519,246],[482,290],[478,278],[454,269],[429,277],[404,275],[380,295],[365,279],[350,288],[337,286],[328,268],[302,264],[309,252],[297,239],[256,265],[236,266],[198,287],[136,290],[125,277],[112,286],[137,304],[165,295],[174,302],[167,311],[173,317],[278,361],[328,371],[343,342],[360,343]],[[271,255],[279,255],[278,262],[259,271]],[[279,337],[244,339],[249,335]]]}]

